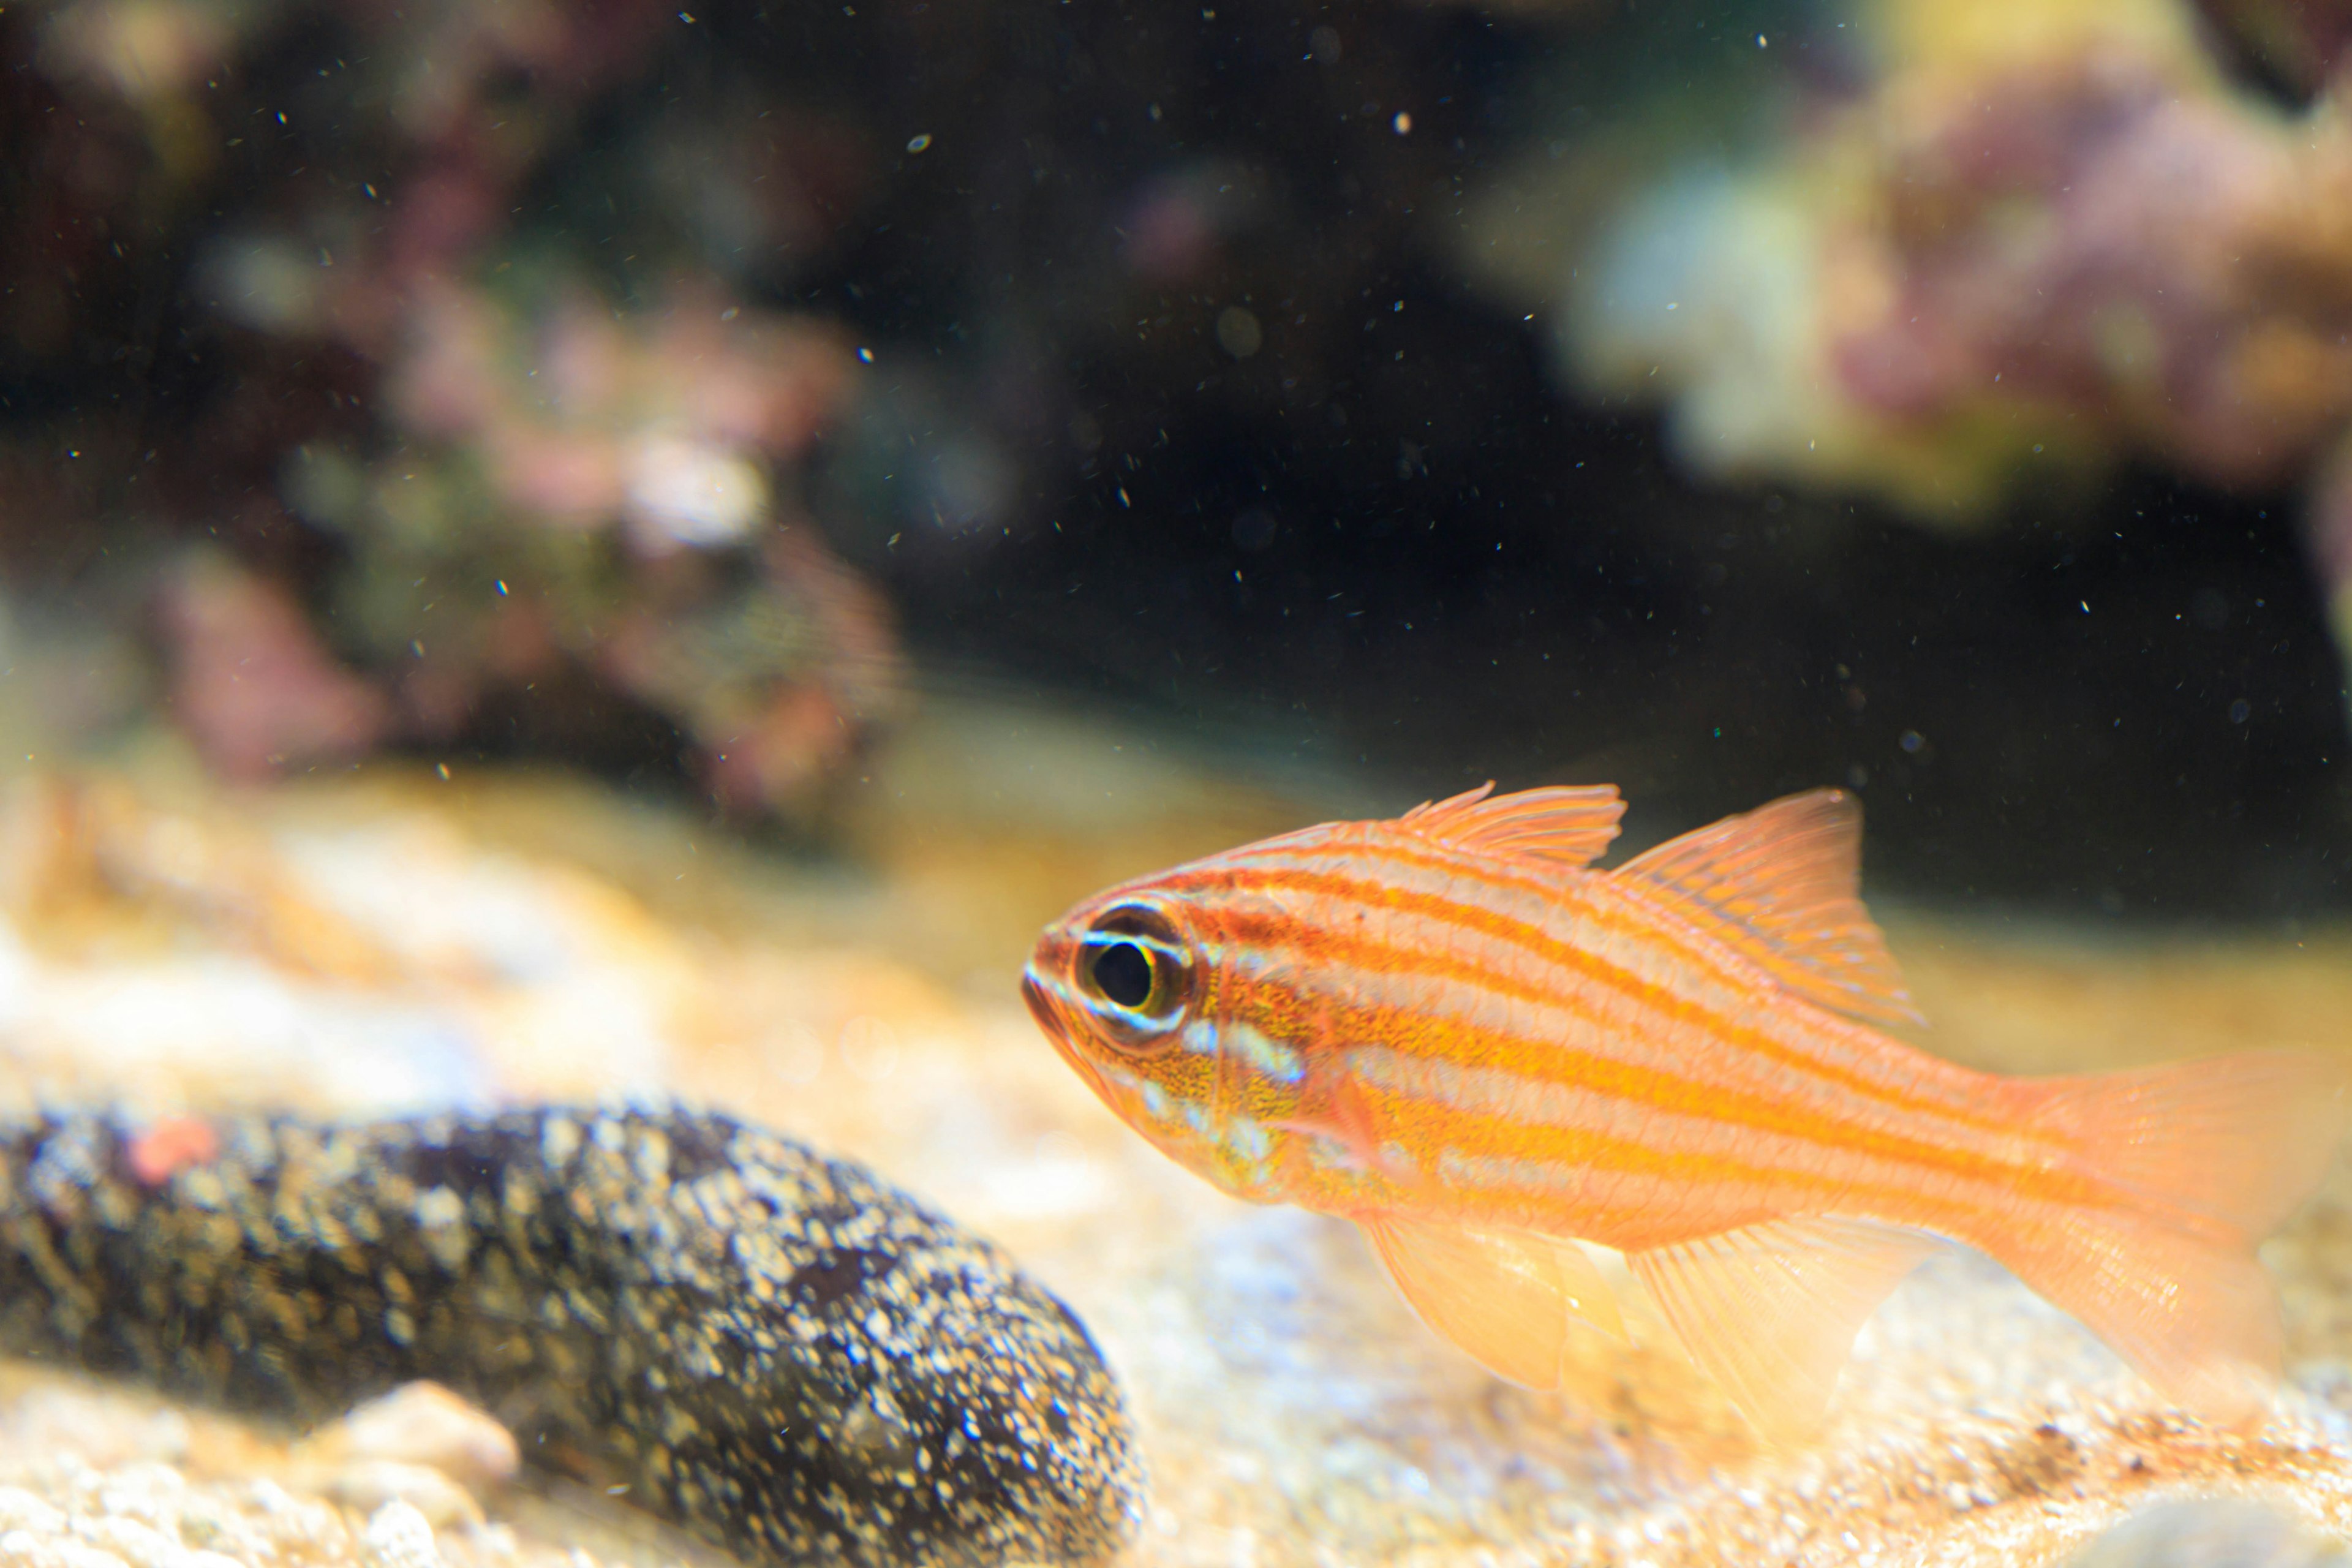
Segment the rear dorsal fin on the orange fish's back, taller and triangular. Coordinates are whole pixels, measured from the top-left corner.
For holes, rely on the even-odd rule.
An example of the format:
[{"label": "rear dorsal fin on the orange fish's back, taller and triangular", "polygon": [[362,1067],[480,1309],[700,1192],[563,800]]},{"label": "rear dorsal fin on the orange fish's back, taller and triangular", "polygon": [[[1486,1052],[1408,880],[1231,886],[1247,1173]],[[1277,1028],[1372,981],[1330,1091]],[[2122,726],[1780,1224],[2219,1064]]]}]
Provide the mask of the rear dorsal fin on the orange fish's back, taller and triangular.
[{"label": "rear dorsal fin on the orange fish's back, taller and triangular", "polygon": [[1863,809],[1809,790],[1668,839],[1616,870],[1806,1001],[1870,1023],[1924,1023],[1863,910]]}]

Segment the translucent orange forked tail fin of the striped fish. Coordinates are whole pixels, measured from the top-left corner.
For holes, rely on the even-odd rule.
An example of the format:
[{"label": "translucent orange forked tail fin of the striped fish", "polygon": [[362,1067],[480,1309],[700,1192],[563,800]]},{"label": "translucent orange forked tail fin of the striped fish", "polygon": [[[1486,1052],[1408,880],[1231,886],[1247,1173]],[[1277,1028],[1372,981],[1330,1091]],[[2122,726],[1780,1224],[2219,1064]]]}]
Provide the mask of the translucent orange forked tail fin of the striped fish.
[{"label": "translucent orange forked tail fin of the striped fish", "polygon": [[2098,1197],[2030,1194],[1971,1239],[2164,1396],[2256,1420],[2279,1375],[2279,1293],[2253,1248],[2333,1164],[2352,1063],[2251,1051],[2009,1091]]}]

